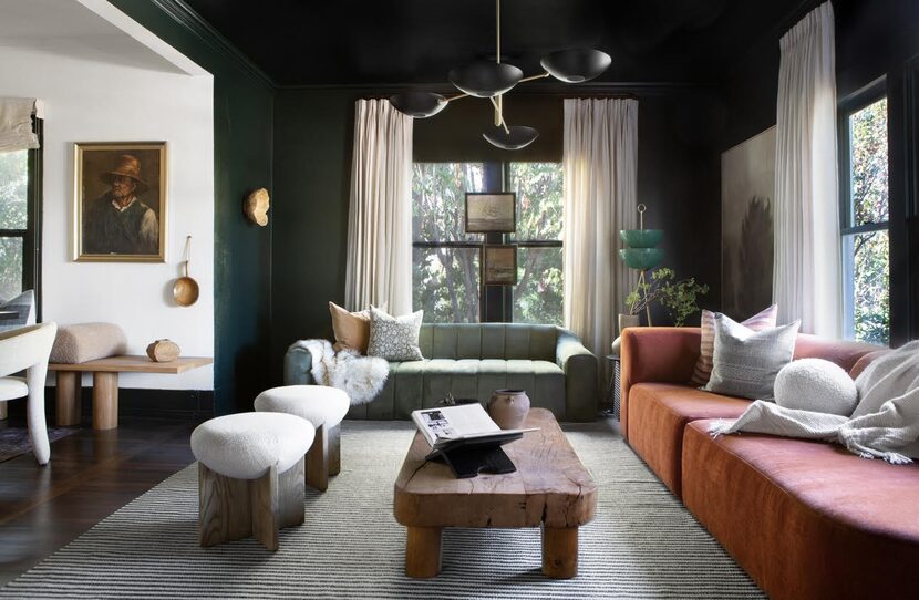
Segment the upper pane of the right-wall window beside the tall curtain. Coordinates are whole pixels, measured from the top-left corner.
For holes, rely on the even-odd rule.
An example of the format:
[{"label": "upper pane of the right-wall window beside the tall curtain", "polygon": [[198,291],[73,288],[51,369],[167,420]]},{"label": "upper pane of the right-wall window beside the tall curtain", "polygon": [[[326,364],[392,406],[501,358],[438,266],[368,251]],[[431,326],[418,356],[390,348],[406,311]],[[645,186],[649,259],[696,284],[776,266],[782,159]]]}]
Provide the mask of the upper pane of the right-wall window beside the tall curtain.
[{"label": "upper pane of the right-wall window beside the tall curtain", "polygon": [[887,210],[887,99],[849,115],[851,224],[885,223]]}]

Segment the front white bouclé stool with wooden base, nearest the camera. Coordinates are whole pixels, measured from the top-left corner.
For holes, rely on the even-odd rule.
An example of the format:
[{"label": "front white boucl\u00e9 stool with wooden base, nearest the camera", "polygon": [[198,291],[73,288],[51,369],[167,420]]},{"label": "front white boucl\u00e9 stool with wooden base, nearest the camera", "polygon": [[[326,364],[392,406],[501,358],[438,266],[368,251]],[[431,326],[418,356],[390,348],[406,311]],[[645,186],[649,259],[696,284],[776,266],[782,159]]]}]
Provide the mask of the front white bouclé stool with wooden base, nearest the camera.
[{"label": "front white boucl\u00e9 stool with wooden base, nearest the camera", "polygon": [[303,523],[303,462],[316,432],[281,413],[218,416],[192,432],[198,459],[198,539],[255,537],[278,549],[278,530]]}]

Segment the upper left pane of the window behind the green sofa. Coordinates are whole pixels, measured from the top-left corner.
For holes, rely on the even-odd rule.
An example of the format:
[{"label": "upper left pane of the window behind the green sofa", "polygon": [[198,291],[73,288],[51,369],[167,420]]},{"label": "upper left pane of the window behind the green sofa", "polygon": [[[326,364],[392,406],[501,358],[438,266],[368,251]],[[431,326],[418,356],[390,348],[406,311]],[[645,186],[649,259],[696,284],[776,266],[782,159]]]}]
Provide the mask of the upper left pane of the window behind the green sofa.
[{"label": "upper left pane of the window behind the green sofa", "polygon": [[414,163],[412,166],[414,241],[466,241],[466,192],[483,190],[482,163]]}]

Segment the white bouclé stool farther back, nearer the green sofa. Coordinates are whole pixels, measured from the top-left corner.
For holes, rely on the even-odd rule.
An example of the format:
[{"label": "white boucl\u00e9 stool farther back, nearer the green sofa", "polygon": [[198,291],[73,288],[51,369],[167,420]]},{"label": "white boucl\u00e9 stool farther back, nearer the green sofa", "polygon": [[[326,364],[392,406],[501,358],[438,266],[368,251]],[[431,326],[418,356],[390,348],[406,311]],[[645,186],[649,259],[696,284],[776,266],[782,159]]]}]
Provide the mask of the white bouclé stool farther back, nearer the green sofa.
[{"label": "white boucl\u00e9 stool farther back, nearer the green sofa", "polygon": [[343,391],[324,385],[285,385],[256,397],[256,411],[288,413],[316,427],[316,439],[307,453],[307,485],[324,492],[329,475],[341,470],[341,420],[351,401]]}]

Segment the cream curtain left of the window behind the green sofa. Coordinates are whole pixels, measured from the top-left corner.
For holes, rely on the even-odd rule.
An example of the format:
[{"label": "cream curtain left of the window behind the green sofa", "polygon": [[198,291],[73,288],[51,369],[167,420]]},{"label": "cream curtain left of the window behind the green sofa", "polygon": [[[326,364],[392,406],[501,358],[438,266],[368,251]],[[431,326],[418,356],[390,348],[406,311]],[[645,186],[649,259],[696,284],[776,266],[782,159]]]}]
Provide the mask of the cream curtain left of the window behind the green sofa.
[{"label": "cream curtain left of the window behind the green sofa", "polygon": [[344,302],[412,311],[412,118],[388,100],[359,100],[348,216]]}]

